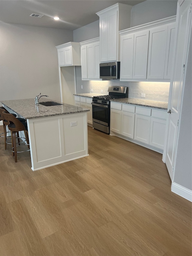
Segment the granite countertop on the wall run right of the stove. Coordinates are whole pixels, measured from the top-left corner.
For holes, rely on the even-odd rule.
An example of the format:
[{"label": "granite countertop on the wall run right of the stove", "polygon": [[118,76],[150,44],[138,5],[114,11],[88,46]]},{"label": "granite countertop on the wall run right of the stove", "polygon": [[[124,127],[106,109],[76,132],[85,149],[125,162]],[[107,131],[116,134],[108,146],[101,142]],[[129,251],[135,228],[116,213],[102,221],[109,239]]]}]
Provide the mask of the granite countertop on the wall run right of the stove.
[{"label": "granite countertop on the wall run right of the stove", "polygon": [[153,108],[164,109],[164,110],[167,110],[167,107],[168,107],[167,102],[149,101],[149,100],[134,99],[134,98],[113,99],[110,101],[119,102],[123,104],[132,104],[132,105],[143,106],[143,107],[153,107]]}]

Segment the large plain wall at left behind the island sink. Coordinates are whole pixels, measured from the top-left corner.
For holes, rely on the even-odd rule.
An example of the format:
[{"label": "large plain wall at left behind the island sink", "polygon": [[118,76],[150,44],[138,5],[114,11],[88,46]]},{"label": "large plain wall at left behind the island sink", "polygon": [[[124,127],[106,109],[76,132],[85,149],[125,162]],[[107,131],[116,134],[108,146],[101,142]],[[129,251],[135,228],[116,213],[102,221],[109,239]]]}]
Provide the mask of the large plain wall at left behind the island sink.
[{"label": "large plain wall at left behind the island sink", "polygon": [[55,46],[73,41],[73,32],[1,23],[0,35],[0,100],[41,92],[60,101]]}]

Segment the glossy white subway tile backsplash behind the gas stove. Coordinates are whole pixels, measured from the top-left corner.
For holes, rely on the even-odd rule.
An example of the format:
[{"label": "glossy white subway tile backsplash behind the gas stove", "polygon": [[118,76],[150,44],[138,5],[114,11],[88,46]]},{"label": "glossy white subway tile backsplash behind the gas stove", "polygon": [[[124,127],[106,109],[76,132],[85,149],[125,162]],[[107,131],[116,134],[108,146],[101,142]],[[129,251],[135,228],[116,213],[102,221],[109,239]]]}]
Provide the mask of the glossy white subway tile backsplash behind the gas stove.
[{"label": "glossy white subway tile backsplash behind the gas stove", "polygon": [[[129,98],[168,102],[170,83],[165,82],[120,82],[119,79],[89,81],[89,91],[93,89],[92,93],[107,95],[109,85],[128,87]],[[141,93],[145,93],[145,97],[141,97]]]}]

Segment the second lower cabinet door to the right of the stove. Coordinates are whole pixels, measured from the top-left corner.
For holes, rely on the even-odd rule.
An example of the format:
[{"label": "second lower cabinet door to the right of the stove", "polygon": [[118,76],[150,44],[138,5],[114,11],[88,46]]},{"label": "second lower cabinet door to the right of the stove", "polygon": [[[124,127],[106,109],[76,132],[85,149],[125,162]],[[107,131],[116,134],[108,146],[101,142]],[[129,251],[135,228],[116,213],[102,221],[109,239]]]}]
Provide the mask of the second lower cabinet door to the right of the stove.
[{"label": "second lower cabinet door to the right of the stove", "polygon": [[135,123],[135,114],[122,111],[121,134],[133,139],[134,123]]}]

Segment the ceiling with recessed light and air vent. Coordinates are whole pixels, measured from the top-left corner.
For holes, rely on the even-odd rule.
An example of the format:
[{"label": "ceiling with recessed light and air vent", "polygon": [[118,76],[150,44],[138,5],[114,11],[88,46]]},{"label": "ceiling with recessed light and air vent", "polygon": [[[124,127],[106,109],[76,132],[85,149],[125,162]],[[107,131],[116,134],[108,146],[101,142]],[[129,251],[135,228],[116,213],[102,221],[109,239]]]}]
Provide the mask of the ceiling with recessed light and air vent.
[{"label": "ceiling with recessed light and air vent", "polygon": [[[97,14],[111,5],[137,5],[145,0],[0,0],[0,21],[4,23],[74,30],[96,20]],[[42,18],[30,17],[44,14]],[[60,20],[55,21],[54,16]]]}]

